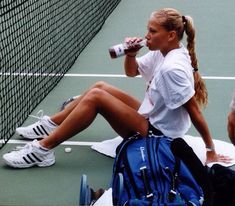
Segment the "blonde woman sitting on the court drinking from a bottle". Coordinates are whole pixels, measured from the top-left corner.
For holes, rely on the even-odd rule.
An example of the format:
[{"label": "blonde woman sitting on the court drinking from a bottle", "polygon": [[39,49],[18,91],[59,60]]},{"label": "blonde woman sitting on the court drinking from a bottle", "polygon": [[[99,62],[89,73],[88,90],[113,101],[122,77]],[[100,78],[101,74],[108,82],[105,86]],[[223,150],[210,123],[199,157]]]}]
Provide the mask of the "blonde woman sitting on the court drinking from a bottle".
[{"label": "blonde woman sitting on the court drinking from a bottle", "polygon": [[[187,35],[188,50],[181,43],[184,33]],[[151,130],[176,139],[185,135],[192,121],[205,142],[206,162],[226,161],[226,158],[216,154],[199,108],[206,105],[207,92],[198,72],[192,18],[182,16],[174,9],[156,11],[148,21],[145,38],[150,52],[136,58],[136,48],[126,54],[124,63],[127,76],[141,74],[148,82],[142,104],[123,91],[98,82],[58,114],[44,116],[31,126],[18,128],[18,134],[25,138],[48,136],[27,144],[19,151],[5,154],[3,159],[6,164],[17,168],[54,164],[52,149],[86,129],[98,113],[123,138],[137,132],[145,137]],[[127,39],[129,43],[138,41],[141,39]],[[187,150],[188,146],[182,139],[176,139],[172,144],[173,152],[183,159],[185,153],[179,154],[181,149],[177,148]],[[190,154],[195,161],[199,161],[192,151]]]}]

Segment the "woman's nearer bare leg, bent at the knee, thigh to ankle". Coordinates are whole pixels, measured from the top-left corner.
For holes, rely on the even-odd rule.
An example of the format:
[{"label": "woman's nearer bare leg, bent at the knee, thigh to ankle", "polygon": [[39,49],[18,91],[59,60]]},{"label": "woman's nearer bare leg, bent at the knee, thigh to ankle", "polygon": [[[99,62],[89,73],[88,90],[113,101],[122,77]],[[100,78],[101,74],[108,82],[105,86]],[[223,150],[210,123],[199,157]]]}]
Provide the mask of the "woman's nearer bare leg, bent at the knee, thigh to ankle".
[{"label": "woman's nearer bare leg, bent at the knee, thigh to ankle", "polygon": [[122,137],[127,137],[133,132],[146,136],[148,121],[137,111],[137,107],[127,105],[123,99],[116,98],[109,92],[93,88],[81,98],[60,126],[40,144],[52,149],[86,129],[101,114]]}]

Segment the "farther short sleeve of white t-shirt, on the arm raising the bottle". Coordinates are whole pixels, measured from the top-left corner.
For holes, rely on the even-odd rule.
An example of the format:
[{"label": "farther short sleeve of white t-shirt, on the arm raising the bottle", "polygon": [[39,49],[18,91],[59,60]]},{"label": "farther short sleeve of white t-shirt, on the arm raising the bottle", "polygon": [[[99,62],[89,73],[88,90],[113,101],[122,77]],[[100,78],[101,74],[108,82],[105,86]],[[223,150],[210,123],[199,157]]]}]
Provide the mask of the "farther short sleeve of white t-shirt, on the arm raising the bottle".
[{"label": "farther short sleeve of white t-shirt, on the arm raising the bottle", "polygon": [[159,51],[150,51],[142,57],[136,59],[138,63],[138,71],[141,76],[147,81],[151,81],[156,64],[160,61]]}]

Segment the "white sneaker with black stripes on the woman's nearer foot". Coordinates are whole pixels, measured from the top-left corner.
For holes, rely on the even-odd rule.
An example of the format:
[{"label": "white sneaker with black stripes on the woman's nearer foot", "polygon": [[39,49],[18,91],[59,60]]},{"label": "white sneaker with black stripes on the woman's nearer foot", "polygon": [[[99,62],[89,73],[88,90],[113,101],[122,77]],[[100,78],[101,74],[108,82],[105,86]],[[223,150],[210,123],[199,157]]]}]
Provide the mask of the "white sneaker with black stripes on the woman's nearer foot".
[{"label": "white sneaker with black stripes on the woman's nearer foot", "polygon": [[37,140],[19,150],[4,154],[3,159],[7,165],[14,168],[48,167],[55,163],[54,151],[41,148]]}]

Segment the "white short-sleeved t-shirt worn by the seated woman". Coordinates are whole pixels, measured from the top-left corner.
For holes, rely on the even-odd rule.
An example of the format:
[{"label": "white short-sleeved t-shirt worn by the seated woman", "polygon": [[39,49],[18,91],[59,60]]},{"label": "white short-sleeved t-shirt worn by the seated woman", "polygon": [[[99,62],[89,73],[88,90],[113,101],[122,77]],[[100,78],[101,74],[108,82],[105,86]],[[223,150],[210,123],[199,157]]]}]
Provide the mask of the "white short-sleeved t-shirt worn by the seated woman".
[{"label": "white short-sleeved t-shirt worn by the seated woman", "polygon": [[150,51],[137,62],[148,84],[138,112],[165,136],[183,137],[191,121],[182,105],[195,93],[188,50],[181,44],[165,57],[160,51]]}]

